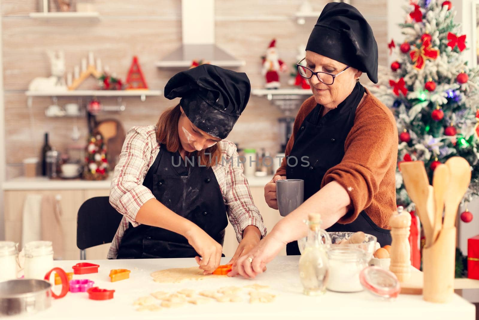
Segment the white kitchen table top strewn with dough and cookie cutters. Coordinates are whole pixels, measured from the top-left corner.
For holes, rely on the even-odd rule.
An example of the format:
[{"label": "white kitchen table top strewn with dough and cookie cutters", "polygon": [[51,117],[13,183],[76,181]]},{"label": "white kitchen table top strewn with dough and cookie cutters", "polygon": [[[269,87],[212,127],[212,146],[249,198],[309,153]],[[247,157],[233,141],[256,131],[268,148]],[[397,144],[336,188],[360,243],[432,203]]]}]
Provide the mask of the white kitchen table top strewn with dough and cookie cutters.
[{"label": "white kitchen table top strewn with dough and cookie cutters", "polygon": [[[176,284],[160,284],[153,281],[150,273],[168,268],[196,266],[194,259],[143,259],[143,260],[96,260],[98,273],[74,275],[73,279],[91,279],[94,286],[114,289],[112,300],[94,301],[87,293],[71,293],[53,300],[52,307],[34,315],[15,316],[8,319],[475,319],[475,307],[460,296],[454,295],[447,304],[433,304],[422,296],[399,295],[392,301],[382,300],[368,292],[335,293],[323,296],[305,296],[298,276],[298,256],[277,257],[268,264],[268,270],[256,279],[211,278],[199,281],[184,281]],[[222,262],[227,263],[228,258]],[[55,261],[55,266],[72,272],[71,267],[80,261]],[[111,269],[129,269],[130,278],[111,283]],[[133,301],[155,291],[175,292],[189,288],[196,291],[218,289],[223,286],[247,284],[269,285],[265,291],[273,293],[273,303],[250,304],[244,291],[245,302],[203,305],[187,304],[179,308],[162,308],[159,311],[137,311]],[[59,291],[59,286],[56,286]]]}]

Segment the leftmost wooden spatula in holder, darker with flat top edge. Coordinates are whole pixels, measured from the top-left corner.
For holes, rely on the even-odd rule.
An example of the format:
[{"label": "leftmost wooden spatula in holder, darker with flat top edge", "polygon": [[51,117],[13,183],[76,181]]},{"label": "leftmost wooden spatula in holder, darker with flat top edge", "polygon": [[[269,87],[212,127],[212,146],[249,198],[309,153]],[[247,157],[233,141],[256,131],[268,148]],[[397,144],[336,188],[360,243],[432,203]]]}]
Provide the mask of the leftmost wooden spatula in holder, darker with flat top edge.
[{"label": "leftmost wooden spatula in holder, darker with flat top edge", "polygon": [[433,226],[427,214],[427,197],[429,195],[429,179],[422,161],[408,161],[399,164],[404,187],[412,202],[416,204],[416,213],[424,227],[426,246],[432,243]]}]

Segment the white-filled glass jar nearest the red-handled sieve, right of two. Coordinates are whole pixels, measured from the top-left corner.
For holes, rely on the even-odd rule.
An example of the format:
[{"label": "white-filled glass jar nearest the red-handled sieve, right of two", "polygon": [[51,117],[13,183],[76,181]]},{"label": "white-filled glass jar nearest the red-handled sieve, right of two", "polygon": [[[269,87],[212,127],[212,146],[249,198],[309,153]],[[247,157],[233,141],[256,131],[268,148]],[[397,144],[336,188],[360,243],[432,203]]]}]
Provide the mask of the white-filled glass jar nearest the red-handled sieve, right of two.
[{"label": "white-filled glass jar nearest the red-handled sieve, right of two", "polygon": [[53,269],[53,248],[51,241],[32,241],[23,248],[25,254],[25,279],[41,279]]}]

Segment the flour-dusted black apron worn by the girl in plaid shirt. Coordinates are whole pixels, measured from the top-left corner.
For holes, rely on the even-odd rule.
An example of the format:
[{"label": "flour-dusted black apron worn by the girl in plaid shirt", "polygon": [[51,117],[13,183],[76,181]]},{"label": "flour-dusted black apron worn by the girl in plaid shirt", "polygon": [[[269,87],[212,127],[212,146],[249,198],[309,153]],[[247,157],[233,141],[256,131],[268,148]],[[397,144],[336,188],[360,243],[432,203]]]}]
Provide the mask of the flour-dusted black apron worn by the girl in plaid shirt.
[{"label": "flour-dusted black apron worn by the girl in plaid shirt", "polygon": [[[199,166],[197,156],[190,160],[183,160],[179,152],[171,153],[166,146],[160,145],[160,152],[143,185],[168,209],[194,222],[223,245],[228,218],[215,173],[211,167]],[[198,253],[180,234],[149,225],[133,227],[130,223],[116,259],[195,256]]]}]

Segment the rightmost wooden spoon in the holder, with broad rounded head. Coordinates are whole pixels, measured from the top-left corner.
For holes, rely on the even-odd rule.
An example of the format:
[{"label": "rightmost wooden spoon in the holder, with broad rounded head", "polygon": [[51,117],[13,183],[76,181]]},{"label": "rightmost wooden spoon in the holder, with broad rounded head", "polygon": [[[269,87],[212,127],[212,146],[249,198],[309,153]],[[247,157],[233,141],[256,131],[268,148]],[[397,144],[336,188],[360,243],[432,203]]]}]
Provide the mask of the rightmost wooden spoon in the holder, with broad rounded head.
[{"label": "rightmost wooden spoon in the holder, with broad rounded head", "polygon": [[443,229],[456,224],[457,208],[471,182],[471,166],[466,159],[452,157],[445,164],[449,168],[451,178],[445,195]]}]

